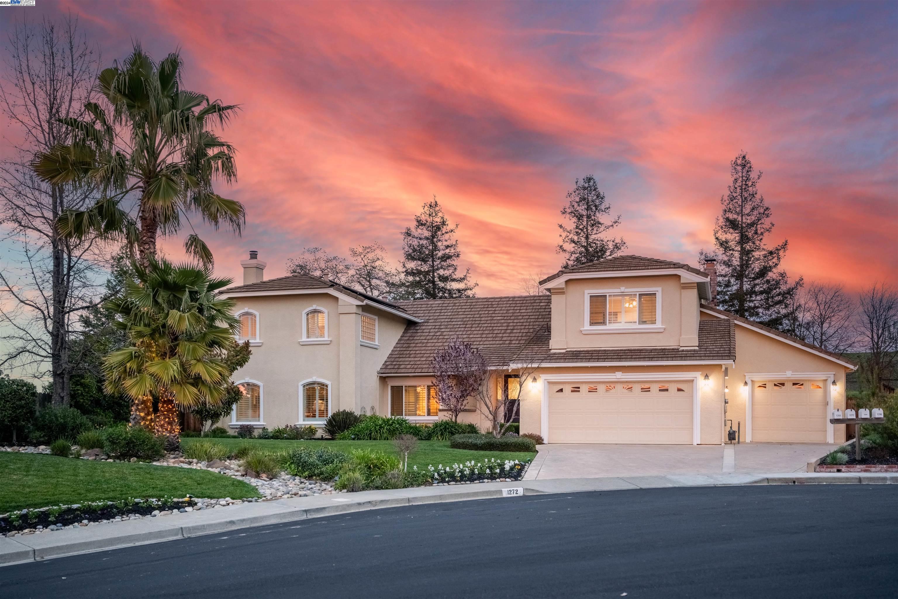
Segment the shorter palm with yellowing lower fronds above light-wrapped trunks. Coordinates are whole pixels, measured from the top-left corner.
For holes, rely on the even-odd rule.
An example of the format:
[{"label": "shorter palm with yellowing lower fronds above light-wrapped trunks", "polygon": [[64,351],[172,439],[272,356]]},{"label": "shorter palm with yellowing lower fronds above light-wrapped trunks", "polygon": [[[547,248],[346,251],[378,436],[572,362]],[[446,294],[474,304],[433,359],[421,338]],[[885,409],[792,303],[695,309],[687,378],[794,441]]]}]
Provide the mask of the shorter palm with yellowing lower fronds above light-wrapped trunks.
[{"label": "shorter palm with yellowing lower fronds above light-wrapped trunks", "polygon": [[238,321],[233,300],[216,296],[232,280],[212,278],[205,266],[154,259],[135,272],[125,293],[106,304],[130,342],[104,359],[106,390],[131,398],[132,426],[177,440],[178,408],[221,401],[232,374],[224,358]]}]

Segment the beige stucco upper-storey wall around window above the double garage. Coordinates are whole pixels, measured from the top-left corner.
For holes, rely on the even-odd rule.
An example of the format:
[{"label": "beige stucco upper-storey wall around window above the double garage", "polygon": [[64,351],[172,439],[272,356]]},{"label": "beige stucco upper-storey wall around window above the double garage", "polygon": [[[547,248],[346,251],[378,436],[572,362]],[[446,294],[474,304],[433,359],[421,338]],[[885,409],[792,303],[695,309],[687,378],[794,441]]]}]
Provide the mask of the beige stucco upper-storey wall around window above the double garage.
[{"label": "beige stucco upper-storey wall around window above the double garage", "polygon": [[[585,324],[585,292],[609,291],[620,293],[625,289],[660,289],[661,317],[660,324],[665,327],[661,332],[614,332],[587,334],[581,329]],[[691,289],[698,297],[698,290]],[[682,336],[682,287],[679,275],[661,277],[609,277],[609,278],[575,278],[565,283],[564,307],[556,307],[560,298],[552,297],[552,339],[558,339],[557,331],[564,330],[568,348],[657,348],[679,347]],[[564,319],[563,329],[556,329],[556,323]],[[698,335],[697,320],[691,321],[694,332],[686,337]],[[609,329],[611,330],[611,329]],[[554,348],[554,346],[553,346]]]}]

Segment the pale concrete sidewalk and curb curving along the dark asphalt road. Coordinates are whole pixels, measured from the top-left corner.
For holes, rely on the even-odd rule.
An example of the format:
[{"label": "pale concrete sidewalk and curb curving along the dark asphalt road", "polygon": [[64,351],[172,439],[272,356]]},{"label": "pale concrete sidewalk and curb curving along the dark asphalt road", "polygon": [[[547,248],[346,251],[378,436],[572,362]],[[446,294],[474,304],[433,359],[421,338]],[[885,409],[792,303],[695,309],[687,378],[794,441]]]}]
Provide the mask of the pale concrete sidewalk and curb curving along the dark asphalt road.
[{"label": "pale concrete sidewalk and curb curving along the dark asphalt road", "polygon": [[898,474],[812,473],[779,474],[671,474],[667,476],[600,477],[592,479],[522,480],[441,487],[417,487],[277,499],[220,509],[174,513],[117,524],[100,524],[13,538],[0,537],[0,566],[57,558],[76,553],[106,551],[130,545],[172,541],[201,534],[225,533],[248,526],[294,522],[307,518],[346,514],[382,507],[400,507],[444,501],[504,497],[502,489],[522,489],[524,495],[576,493],[664,487],[714,487],[766,484],[895,484]]}]

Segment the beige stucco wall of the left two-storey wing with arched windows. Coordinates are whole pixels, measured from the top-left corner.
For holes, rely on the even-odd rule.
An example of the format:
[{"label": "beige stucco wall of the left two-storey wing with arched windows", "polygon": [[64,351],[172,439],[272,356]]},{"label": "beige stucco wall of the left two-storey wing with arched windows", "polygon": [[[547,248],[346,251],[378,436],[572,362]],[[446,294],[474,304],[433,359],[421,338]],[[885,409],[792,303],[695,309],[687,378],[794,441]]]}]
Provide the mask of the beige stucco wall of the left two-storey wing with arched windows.
[{"label": "beige stucco wall of the left two-storey wing with arched windows", "polygon": [[[259,313],[261,345],[252,348],[249,363],[233,374],[233,381],[260,383],[265,427],[302,423],[300,384],[310,379],[330,383],[330,411],[358,413],[365,406],[367,412],[377,404],[382,385],[377,371],[404,330],[405,319],[325,293],[237,297],[235,301],[236,312],[248,308]],[[330,343],[300,343],[303,313],[313,306],[327,313]],[[379,348],[361,345],[362,313],[377,317]],[[218,424],[228,427],[231,422],[227,417]]]}]

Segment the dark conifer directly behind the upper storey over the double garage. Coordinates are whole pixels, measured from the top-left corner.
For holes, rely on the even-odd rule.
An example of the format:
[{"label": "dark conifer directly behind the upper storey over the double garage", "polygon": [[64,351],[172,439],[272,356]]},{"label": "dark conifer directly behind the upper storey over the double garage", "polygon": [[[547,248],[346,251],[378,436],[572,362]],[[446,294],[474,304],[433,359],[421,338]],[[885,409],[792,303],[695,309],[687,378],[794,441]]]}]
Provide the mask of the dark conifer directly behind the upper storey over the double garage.
[{"label": "dark conifer directly behind the upper storey over the double garage", "polygon": [[604,260],[617,256],[627,247],[621,239],[602,236],[621,224],[618,215],[605,223],[602,219],[611,213],[612,207],[605,201],[605,194],[599,190],[593,175],[587,175],[583,181],[577,179],[573,190],[568,191],[568,206],[561,208],[561,216],[570,220],[568,228],[559,223],[561,242],[558,253],[565,255],[563,269],[568,269],[595,260]]}]

